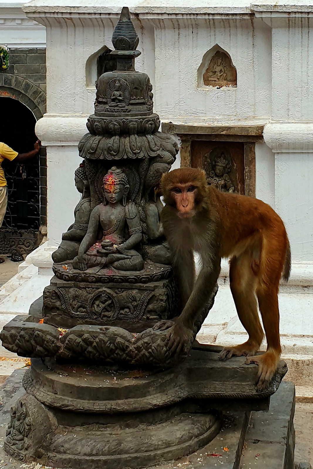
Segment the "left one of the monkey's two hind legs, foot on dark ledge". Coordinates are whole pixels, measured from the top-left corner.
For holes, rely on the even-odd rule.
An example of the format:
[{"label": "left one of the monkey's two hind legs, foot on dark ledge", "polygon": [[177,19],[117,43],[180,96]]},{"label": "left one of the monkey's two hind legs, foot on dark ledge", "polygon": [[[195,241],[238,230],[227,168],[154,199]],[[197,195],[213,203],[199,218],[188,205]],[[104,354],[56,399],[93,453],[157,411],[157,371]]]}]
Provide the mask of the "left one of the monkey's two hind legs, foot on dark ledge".
[{"label": "left one of the monkey's two hind legs, foot on dark ledge", "polygon": [[227,360],[232,356],[253,356],[260,348],[263,330],[258,315],[255,296],[257,272],[252,269],[252,251],[246,251],[230,261],[229,280],[236,310],[241,324],[249,334],[249,339],[235,347],[225,347],[219,358]]}]

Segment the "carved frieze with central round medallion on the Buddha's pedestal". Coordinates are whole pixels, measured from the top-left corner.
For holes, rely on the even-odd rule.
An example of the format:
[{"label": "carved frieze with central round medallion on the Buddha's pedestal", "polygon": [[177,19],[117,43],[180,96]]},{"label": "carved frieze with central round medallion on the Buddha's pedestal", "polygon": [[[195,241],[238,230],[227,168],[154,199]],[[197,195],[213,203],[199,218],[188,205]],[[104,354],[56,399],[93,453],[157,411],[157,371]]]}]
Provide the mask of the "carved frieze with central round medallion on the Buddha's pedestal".
[{"label": "carved frieze with central round medallion on the Buddha's pedestal", "polygon": [[[54,283],[54,282],[53,282]],[[173,278],[148,284],[116,283],[107,286],[58,280],[44,290],[44,314],[53,324],[137,323],[173,317],[177,292]],[[68,319],[66,318],[68,317]],[[62,321],[60,319],[60,325]],[[126,323],[125,323],[126,324]]]}]

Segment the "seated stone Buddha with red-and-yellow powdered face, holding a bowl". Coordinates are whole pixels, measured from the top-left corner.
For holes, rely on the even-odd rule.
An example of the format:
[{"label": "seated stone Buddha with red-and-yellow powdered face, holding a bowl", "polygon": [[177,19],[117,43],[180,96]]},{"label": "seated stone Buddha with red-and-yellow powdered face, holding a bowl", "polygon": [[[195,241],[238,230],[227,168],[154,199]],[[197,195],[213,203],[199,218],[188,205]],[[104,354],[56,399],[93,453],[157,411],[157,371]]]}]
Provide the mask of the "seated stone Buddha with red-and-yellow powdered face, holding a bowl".
[{"label": "seated stone Buddha with red-and-yellow powdered face, holding a bowl", "polygon": [[114,166],[103,178],[103,190],[104,202],[92,210],[73,267],[87,270],[112,266],[116,270],[140,271],[144,261],[134,248],[141,242],[142,229],[136,205],[127,202],[127,175]]}]

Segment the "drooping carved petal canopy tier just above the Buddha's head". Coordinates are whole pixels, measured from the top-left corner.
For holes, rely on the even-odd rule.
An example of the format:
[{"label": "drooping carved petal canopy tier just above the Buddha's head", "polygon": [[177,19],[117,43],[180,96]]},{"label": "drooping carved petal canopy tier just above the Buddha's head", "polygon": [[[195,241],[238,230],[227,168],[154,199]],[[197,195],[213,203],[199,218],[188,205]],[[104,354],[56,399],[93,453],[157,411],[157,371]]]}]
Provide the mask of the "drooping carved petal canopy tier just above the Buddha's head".
[{"label": "drooping carved petal canopy tier just above the Buddha's head", "polygon": [[164,158],[175,161],[178,145],[172,136],[155,132],[148,135],[98,136],[86,134],[78,144],[79,156],[86,159]]}]

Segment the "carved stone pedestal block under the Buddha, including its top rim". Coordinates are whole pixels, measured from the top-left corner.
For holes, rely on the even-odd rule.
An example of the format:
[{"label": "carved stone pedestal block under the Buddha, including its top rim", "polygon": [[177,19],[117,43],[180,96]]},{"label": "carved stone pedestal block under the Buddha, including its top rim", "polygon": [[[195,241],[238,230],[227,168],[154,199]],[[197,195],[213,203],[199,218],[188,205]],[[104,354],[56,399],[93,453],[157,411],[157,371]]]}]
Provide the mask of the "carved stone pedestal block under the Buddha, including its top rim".
[{"label": "carved stone pedestal block under the Buddha, including its top rim", "polygon": [[[142,272],[119,272],[112,269],[101,272],[71,270],[54,272],[44,290],[45,323],[69,328],[79,324],[126,326],[132,323],[134,332],[138,323],[173,318],[179,314],[179,296],[168,265],[146,263]],[[150,324],[150,327],[151,327]],[[144,327],[144,326],[142,326]],[[141,329],[142,330],[142,329]]]}]

